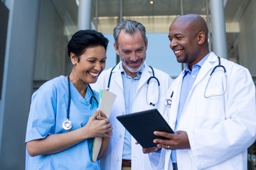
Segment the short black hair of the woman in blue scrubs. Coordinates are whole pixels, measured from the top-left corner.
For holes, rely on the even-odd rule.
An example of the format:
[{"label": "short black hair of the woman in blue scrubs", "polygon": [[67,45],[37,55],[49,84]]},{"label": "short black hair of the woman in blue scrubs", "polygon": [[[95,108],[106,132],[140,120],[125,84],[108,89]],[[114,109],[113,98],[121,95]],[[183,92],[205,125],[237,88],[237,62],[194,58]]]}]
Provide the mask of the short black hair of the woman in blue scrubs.
[{"label": "short black hair of the woman in blue scrubs", "polygon": [[78,30],[68,42],[68,56],[73,52],[79,58],[88,47],[102,46],[107,51],[108,42],[97,30]]}]

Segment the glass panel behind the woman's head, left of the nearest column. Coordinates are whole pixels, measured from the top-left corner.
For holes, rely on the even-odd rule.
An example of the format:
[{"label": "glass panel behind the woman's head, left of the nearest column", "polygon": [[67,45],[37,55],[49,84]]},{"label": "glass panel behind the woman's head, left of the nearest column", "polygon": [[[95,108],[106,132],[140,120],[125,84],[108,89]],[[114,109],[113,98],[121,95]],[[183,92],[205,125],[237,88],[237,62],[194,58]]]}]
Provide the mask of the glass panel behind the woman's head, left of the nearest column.
[{"label": "glass panel behind the woman's head, left of the nearest column", "polygon": [[70,0],[41,0],[33,87],[71,71],[68,40],[77,31],[78,5]]}]

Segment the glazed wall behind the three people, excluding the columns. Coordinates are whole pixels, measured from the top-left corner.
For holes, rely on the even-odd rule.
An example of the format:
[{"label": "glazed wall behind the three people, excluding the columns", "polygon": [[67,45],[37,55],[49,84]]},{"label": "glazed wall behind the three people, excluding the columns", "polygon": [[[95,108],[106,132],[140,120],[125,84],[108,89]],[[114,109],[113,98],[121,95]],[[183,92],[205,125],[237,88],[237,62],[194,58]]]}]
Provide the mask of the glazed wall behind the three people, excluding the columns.
[{"label": "glazed wall behind the three people, excluding the columns", "polygon": [[[150,3],[151,2],[151,3]],[[224,0],[228,59],[247,67],[255,77],[255,1]],[[35,79],[50,79],[70,71],[70,62],[65,46],[77,30],[79,0],[41,1],[36,53]],[[149,37],[149,64],[166,68],[164,71],[176,77],[181,64],[174,58],[166,42],[171,21],[182,13],[198,13],[207,18],[210,14],[208,0],[158,0],[158,1],[92,1],[92,29],[97,29],[110,39],[107,50],[107,68],[117,63],[113,50],[112,30],[122,19],[139,21],[146,27]],[[208,19],[210,28],[210,15]],[[157,39],[157,40],[156,40]],[[159,45],[155,45],[155,42]],[[166,47],[167,45],[167,47]],[[160,56],[160,57],[159,57]],[[164,57],[161,57],[164,56]],[[63,59],[65,58],[65,60]],[[151,62],[152,60],[152,62]],[[168,62],[163,62],[167,60]],[[170,67],[171,66],[171,67]],[[174,69],[169,69],[174,68]]]}]

